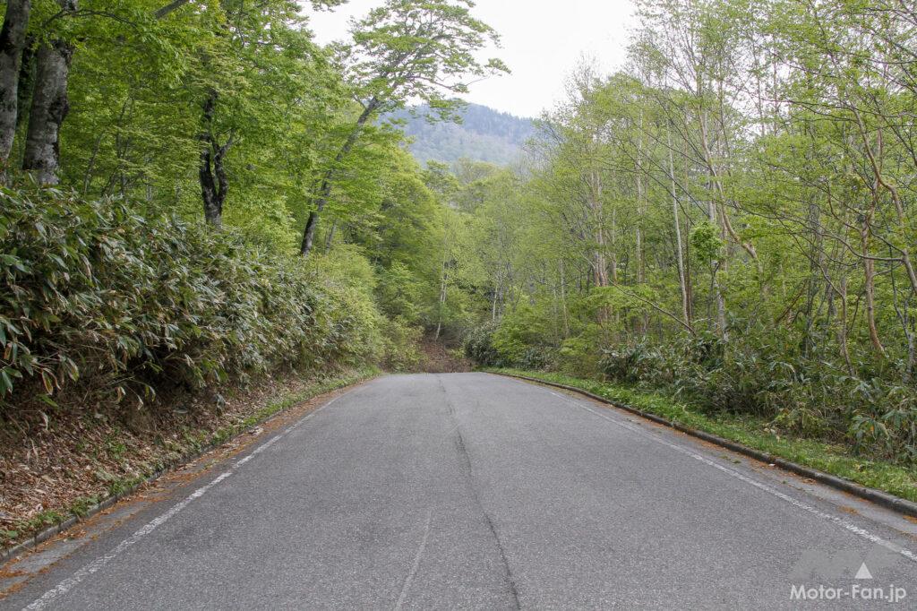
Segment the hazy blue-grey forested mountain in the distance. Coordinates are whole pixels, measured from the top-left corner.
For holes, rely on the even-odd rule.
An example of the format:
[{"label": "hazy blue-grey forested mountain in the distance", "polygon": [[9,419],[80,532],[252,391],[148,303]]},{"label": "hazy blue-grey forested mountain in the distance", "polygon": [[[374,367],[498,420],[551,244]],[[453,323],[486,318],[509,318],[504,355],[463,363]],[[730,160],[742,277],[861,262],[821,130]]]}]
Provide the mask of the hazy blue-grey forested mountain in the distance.
[{"label": "hazy blue-grey forested mountain in the distance", "polygon": [[535,134],[532,119],[514,117],[487,106],[471,104],[461,111],[461,123],[429,123],[426,106],[414,109],[415,117],[406,111],[392,117],[405,121],[404,132],[414,139],[411,152],[417,161],[452,163],[463,157],[506,165],[522,154],[525,140]]}]

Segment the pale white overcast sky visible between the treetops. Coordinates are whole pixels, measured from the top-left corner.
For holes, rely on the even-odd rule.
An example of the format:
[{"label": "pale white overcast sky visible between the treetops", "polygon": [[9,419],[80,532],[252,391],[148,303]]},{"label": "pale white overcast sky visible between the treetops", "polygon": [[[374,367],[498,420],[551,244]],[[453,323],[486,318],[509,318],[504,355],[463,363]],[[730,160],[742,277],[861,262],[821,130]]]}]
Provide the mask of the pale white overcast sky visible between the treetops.
[{"label": "pale white overcast sky visible between the treetops", "polygon": [[[332,13],[313,14],[319,42],[347,37],[348,18],[362,16],[381,0],[350,0]],[[563,93],[564,78],[583,55],[605,71],[624,62],[634,21],[629,0],[478,0],[474,15],[502,37],[503,49],[487,53],[505,61],[512,74],[475,83],[470,102],[520,117],[536,117]]]}]

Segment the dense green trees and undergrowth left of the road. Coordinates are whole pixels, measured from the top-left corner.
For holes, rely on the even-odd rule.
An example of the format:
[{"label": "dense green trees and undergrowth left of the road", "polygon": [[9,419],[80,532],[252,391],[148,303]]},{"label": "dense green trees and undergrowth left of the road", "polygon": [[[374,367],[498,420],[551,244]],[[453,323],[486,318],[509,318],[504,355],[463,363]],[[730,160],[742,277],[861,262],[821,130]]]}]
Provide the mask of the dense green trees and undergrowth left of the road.
[{"label": "dense green trees and undergrowth left of the road", "polygon": [[387,0],[321,46],[309,9],[6,3],[7,416],[400,369],[425,331],[458,337],[472,308],[442,296],[451,211],[384,117],[423,100],[450,120],[466,83],[506,71],[480,59],[497,34],[466,0]]}]

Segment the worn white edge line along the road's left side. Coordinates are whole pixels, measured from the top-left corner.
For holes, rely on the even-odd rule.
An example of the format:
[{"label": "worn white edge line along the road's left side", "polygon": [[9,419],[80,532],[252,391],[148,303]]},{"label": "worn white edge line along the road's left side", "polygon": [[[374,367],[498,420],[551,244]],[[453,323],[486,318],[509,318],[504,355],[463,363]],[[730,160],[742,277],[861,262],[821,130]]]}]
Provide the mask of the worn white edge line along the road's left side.
[{"label": "worn white edge line along the road's left side", "polygon": [[229,469],[229,471],[221,475],[218,475],[213,482],[207,483],[206,485],[201,486],[200,488],[195,490],[192,494],[189,494],[188,496],[186,496],[177,505],[172,506],[171,509],[167,511],[166,513],[150,520],[148,524],[140,528],[137,532],[135,532],[133,535],[131,535],[127,539],[124,539],[123,541],[118,543],[117,546],[113,550],[109,551],[104,556],[100,556],[99,558],[96,558],[94,561],[90,562],[89,564],[83,565],[82,568],[77,570],[77,572],[74,572],[70,577],[63,580],[61,583],[58,583],[57,585],[55,585],[48,592],[41,594],[41,596],[35,599],[30,605],[23,607],[23,611],[38,611],[39,609],[43,609],[47,605],[49,605],[51,602],[53,602],[53,600],[57,598],[58,596],[62,596],[63,594],[67,594],[68,592],[70,592],[75,586],[83,582],[83,580],[86,579],[86,577],[89,577],[90,575],[92,575],[95,572],[99,572],[102,568],[105,567],[106,564],[108,564],[108,562],[115,560],[115,558],[118,555],[120,555],[124,550],[127,550],[127,548],[130,548],[131,546],[136,544],[140,539],[143,539],[144,537],[149,535],[149,533],[156,530],[156,528],[159,528],[160,526],[165,524],[169,519],[171,519],[171,517],[174,517],[176,514],[178,514],[178,512],[182,511],[182,509],[190,505],[194,499],[204,496],[204,494],[206,494],[208,490],[213,488],[217,483],[224,481],[227,477],[229,477],[234,472],[236,472],[236,470],[239,467],[241,467],[243,464],[255,458],[255,456],[260,454],[262,451],[270,448],[271,445],[273,445],[275,442],[281,439],[284,435],[292,431],[294,428],[299,427],[306,420],[310,419],[311,417],[314,417],[315,414],[325,409],[328,405],[333,404],[335,401],[337,401],[337,399],[347,394],[350,394],[350,392],[351,391],[347,391],[346,393],[338,394],[335,398],[328,401],[325,405],[322,405],[318,409],[313,410],[308,416],[297,420],[295,424],[286,428],[286,430],[284,430],[279,435],[275,435],[274,437],[272,437],[265,443],[262,443],[258,448],[256,448],[255,450],[252,450],[248,456],[233,463],[233,466]]}]

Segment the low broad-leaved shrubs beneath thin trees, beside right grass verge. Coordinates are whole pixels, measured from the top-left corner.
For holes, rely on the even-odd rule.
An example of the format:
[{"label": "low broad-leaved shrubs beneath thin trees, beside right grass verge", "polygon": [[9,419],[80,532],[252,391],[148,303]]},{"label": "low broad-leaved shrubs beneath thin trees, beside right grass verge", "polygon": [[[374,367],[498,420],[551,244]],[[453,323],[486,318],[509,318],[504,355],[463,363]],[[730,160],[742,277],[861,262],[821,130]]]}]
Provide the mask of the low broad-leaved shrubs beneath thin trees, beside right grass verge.
[{"label": "low broad-leaved shrubs beneath thin trees, beside right grass verge", "polygon": [[774,428],[917,460],[917,390],[804,356],[787,332],[751,329],[728,341],[684,336],[602,354],[610,380],[668,387],[714,412],[765,417]]}]

